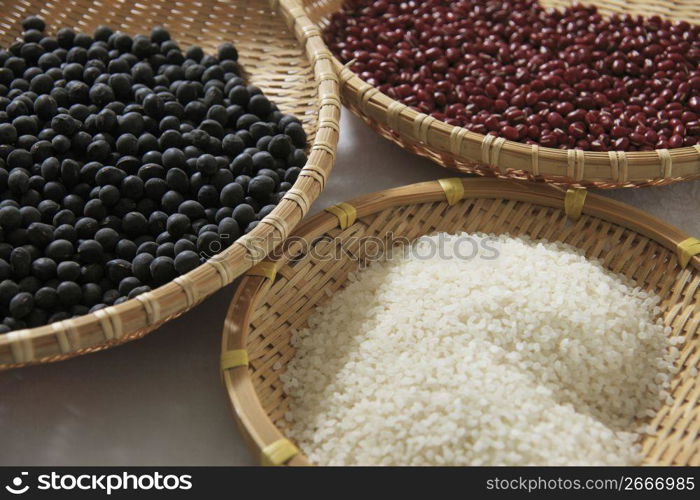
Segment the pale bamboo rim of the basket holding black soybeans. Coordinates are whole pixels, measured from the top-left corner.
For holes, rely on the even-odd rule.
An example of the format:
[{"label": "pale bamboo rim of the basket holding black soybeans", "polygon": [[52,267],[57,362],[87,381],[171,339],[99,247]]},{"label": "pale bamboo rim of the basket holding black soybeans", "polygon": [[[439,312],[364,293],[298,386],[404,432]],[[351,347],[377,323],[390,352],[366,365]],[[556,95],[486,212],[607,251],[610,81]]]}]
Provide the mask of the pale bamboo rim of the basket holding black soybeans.
[{"label": "pale bamboo rim of the basket holding black soybeans", "polygon": [[[281,16],[286,22],[314,73],[316,133],[313,141],[307,145],[307,162],[292,188],[250,233],[242,235],[231,246],[187,274],[116,306],[0,335],[0,351],[7,351],[4,358],[12,360],[0,362],[0,371],[60,361],[143,337],[233,282],[267,255],[278,242],[284,240],[291,228],[306,215],[313,201],[323,191],[335,161],[340,119],[338,78],[318,28],[306,16],[299,1],[271,0],[269,4],[265,2],[265,5],[269,5],[272,15]],[[41,6],[43,4],[39,5]],[[32,13],[38,10],[34,7],[36,6],[33,6]],[[24,12],[26,14],[28,12]],[[70,22],[74,21],[62,20],[65,24]],[[231,35],[234,41],[235,36]],[[254,68],[249,66],[244,66],[243,71],[244,74],[254,74]],[[173,301],[178,304],[175,308],[167,305]],[[124,331],[124,322],[135,322],[137,326]],[[83,345],[81,329],[93,332],[95,329],[101,330],[104,340]],[[48,353],[36,356],[37,342],[52,342],[54,346]],[[73,345],[79,347],[72,349]]]}]

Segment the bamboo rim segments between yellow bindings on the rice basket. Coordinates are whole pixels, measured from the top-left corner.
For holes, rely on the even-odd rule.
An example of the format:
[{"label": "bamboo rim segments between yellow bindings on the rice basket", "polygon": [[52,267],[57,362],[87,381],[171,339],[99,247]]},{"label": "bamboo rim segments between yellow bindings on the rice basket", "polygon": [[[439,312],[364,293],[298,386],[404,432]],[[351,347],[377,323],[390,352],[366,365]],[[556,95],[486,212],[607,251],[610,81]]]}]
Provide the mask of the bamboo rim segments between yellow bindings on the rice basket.
[{"label": "bamboo rim segments between yellow bindings on the rice basket", "polygon": [[[442,185],[445,180],[451,183],[461,183],[464,191],[459,199],[503,199],[547,208],[564,209],[567,198],[569,198],[566,191],[543,183],[493,178],[441,179],[378,191],[347,201],[346,203],[355,208],[356,219],[352,224],[343,227],[343,230],[347,230],[362,217],[388,208],[444,202],[446,196],[449,200],[449,194],[446,193],[446,189]],[[448,201],[448,203],[450,202]],[[673,252],[678,250],[678,245],[681,242],[688,239],[686,233],[671,224],[626,203],[595,193],[587,193],[585,202],[580,208],[582,215],[593,216],[639,233]],[[338,227],[338,216],[326,209],[297,226],[290,235],[290,240],[300,238],[313,241]],[[267,258],[259,266],[269,264],[272,266],[271,269],[277,271],[284,263],[283,258]],[[688,268],[700,272],[700,254],[690,258]],[[253,456],[259,457],[262,463],[269,461],[268,455],[271,445],[291,444],[263,409],[253,384],[247,357],[251,314],[258,307],[265,293],[274,285],[277,276],[279,274],[275,272],[255,272],[244,276],[229,305],[221,342],[222,356],[231,350],[240,350],[246,353],[243,363],[228,368],[221,367],[222,384],[228,395],[229,405],[237,427],[243,434]],[[290,278],[291,275],[285,275],[285,277]],[[290,449],[290,456],[291,458],[284,461],[286,465],[313,465],[303,451],[295,447]]]}]

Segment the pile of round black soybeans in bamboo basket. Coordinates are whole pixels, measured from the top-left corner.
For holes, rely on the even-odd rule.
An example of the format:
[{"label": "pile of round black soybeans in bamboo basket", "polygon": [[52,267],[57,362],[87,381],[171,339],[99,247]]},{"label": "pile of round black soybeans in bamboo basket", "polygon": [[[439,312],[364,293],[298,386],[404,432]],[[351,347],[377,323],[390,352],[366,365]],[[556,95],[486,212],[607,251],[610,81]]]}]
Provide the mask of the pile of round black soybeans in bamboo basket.
[{"label": "pile of round black soybeans in bamboo basket", "polygon": [[238,53],[168,32],[44,33],[0,49],[0,333],[119,304],[252,230],[306,162],[300,121]]}]

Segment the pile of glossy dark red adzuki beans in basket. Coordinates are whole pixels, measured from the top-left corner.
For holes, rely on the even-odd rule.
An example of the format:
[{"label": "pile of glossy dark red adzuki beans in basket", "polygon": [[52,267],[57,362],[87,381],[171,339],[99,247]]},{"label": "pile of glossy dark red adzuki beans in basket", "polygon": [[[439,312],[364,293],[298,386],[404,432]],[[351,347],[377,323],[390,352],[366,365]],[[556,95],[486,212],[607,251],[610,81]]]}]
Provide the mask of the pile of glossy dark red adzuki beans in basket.
[{"label": "pile of glossy dark red adzuki beans in basket", "polygon": [[536,0],[346,0],[324,32],[389,97],[526,144],[700,143],[700,26]]}]

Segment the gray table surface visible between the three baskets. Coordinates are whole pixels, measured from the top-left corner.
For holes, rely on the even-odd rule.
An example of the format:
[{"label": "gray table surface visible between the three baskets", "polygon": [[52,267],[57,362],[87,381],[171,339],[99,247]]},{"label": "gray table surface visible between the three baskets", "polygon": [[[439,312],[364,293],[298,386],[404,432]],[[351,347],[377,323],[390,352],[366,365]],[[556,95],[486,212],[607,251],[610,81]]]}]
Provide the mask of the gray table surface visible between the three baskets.
[{"label": "gray table surface visible between the three baskets", "polygon": [[[312,212],[452,174],[344,110],[337,163]],[[700,181],[606,192],[700,236]],[[247,465],[219,371],[229,286],[142,340],[0,374],[1,465]]]}]

